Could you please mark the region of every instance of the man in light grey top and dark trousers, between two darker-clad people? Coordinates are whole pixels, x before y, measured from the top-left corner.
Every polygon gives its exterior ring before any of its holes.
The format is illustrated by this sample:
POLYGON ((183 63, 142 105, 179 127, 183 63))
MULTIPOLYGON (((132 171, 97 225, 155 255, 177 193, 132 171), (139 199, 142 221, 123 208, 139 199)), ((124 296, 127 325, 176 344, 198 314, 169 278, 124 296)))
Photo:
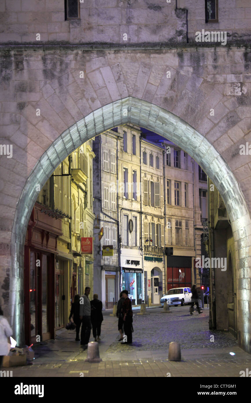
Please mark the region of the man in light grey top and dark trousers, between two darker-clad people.
POLYGON ((80 344, 85 345, 85 348, 87 348, 91 334, 91 303, 89 300, 90 291, 90 287, 85 287, 85 293, 80 298, 79 309, 79 318, 82 320, 80 344))

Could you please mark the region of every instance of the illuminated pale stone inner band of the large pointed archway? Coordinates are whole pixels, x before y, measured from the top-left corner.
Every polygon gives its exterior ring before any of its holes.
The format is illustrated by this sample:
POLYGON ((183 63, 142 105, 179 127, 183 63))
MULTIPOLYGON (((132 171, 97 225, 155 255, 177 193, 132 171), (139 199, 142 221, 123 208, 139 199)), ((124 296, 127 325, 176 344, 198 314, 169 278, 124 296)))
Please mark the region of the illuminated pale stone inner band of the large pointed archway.
MULTIPOLYGON (((181 118, 149 102, 127 97, 91 112, 64 131, 41 156, 25 183, 17 205, 11 237, 10 320, 18 343, 23 341, 23 246, 27 222, 37 198, 36 185, 40 184, 42 187, 58 164, 82 143, 126 123, 145 127, 168 138, 190 154, 203 168, 218 188, 228 211, 235 249, 239 253, 237 267, 241 268, 241 264, 248 267, 251 219, 243 193, 228 164, 205 137, 181 118)), ((243 279, 247 275, 247 270, 240 272, 243 279)), ((251 328, 250 323, 245 322, 245 315, 251 297, 247 290, 241 289, 240 280, 239 284, 239 340, 243 348, 250 351, 251 328)))

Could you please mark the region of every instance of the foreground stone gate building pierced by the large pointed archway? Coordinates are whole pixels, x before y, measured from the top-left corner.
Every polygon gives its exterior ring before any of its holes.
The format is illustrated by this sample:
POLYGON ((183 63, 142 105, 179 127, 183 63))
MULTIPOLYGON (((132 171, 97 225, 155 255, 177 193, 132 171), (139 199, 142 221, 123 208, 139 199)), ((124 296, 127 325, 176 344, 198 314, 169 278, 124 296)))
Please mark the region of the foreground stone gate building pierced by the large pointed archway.
POLYGON ((250 352, 249 1, 75 4, 0 4, 0 303, 18 344, 36 185, 85 141, 133 124, 187 152, 217 187, 234 237, 238 341, 250 352))

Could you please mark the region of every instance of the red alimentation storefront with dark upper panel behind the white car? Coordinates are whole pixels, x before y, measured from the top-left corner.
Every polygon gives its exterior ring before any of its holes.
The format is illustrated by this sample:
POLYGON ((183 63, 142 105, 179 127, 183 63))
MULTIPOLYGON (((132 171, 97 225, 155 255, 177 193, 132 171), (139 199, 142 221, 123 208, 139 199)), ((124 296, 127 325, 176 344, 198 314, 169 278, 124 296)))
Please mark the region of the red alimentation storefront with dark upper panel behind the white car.
POLYGON ((191 258, 187 256, 167 256, 167 290, 191 287, 191 258))

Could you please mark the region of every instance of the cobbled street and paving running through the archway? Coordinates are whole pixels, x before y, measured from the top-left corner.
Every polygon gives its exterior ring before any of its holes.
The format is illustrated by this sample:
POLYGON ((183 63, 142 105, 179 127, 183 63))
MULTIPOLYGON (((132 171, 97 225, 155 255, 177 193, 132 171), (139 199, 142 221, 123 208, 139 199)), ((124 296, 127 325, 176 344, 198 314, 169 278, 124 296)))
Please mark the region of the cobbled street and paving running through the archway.
MULTIPOLYGON (((189 307, 147 309, 149 315, 133 311, 133 344, 118 342, 117 318, 106 311, 99 342, 100 363, 85 362, 87 350, 75 341, 75 332, 61 329, 56 340, 34 346, 32 365, 9 368, 13 377, 239 377, 251 367, 251 356, 224 331, 208 330, 209 310, 189 314, 189 307), (214 336, 214 342, 212 340, 214 336), (181 345, 181 361, 168 361, 171 341, 181 345), (235 355, 230 355, 230 352, 235 355)), ((93 341, 92 334, 90 341, 93 341)))

